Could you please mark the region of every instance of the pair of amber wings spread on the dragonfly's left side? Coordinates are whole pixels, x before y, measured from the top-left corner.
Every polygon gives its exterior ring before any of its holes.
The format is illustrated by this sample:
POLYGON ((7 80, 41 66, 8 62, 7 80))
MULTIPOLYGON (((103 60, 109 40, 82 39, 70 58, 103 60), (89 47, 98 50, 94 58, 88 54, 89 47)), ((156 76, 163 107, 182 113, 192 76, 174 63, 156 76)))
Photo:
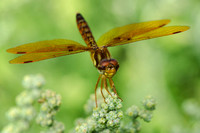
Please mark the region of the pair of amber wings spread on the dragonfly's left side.
POLYGON ((10 61, 11 64, 31 63, 59 56, 80 53, 89 50, 77 42, 65 39, 40 41, 8 49, 7 52, 24 54, 10 61))

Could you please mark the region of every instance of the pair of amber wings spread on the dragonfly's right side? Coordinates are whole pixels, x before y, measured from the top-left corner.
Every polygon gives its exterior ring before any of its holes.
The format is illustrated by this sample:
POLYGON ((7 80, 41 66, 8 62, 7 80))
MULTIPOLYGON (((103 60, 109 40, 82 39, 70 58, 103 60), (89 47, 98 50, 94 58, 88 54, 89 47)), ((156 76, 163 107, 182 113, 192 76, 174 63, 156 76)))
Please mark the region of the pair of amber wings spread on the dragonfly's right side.
POLYGON ((115 28, 102 35, 97 41, 97 45, 99 47, 111 47, 161 36, 172 35, 189 29, 188 26, 163 27, 169 22, 170 20, 157 20, 115 28))

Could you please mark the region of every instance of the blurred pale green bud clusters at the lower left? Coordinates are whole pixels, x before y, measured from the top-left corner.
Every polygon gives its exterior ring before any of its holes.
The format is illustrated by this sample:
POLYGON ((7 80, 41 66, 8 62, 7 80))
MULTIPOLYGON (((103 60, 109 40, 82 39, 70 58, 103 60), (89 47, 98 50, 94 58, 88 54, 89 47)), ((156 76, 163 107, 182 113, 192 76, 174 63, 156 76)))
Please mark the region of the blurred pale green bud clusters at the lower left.
POLYGON ((61 97, 55 92, 46 90, 42 93, 41 88, 45 80, 41 75, 25 76, 22 82, 24 90, 16 97, 16 107, 7 112, 10 123, 3 128, 1 133, 24 133, 30 128, 30 124, 36 117, 36 110, 33 104, 41 103, 40 113, 36 121, 43 127, 48 127, 41 133, 63 133, 63 123, 54 120, 60 104, 61 97), (40 98, 40 99, 39 99, 40 98), (39 99, 39 100, 38 100, 39 99))

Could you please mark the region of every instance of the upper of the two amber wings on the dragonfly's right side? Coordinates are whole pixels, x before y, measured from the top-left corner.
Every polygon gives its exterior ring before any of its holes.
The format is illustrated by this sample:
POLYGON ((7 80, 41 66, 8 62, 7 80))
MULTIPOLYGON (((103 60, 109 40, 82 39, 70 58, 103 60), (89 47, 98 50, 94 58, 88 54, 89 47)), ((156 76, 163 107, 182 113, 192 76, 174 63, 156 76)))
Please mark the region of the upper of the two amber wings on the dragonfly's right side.
POLYGON ((119 43, 119 41, 122 39, 121 36, 127 36, 130 34, 132 36, 141 35, 151 30, 165 26, 169 22, 170 20, 164 19, 164 20, 129 24, 126 26, 114 28, 108 31, 107 33, 103 34, 97 41, 97 45, 100 47, 100 46, 106 46, 108 44, 112 45, 114 43, 119 43))

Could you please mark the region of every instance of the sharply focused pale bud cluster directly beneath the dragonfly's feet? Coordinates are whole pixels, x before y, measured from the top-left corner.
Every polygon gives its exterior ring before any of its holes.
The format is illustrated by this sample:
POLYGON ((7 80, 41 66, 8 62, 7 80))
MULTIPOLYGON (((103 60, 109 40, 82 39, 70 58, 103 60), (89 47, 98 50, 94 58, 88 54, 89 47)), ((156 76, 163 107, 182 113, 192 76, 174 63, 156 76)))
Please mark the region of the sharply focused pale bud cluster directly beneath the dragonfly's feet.
POLYGON ((118 130, 123 117, 122 101, 114 93, 112 93, 112 97, 108 95, 105 101, 106 103, 101 104, 101 108, 93 110, 92 116, 95 120, 95 130, 103 131, 109 129, 115 132, 118 130))

